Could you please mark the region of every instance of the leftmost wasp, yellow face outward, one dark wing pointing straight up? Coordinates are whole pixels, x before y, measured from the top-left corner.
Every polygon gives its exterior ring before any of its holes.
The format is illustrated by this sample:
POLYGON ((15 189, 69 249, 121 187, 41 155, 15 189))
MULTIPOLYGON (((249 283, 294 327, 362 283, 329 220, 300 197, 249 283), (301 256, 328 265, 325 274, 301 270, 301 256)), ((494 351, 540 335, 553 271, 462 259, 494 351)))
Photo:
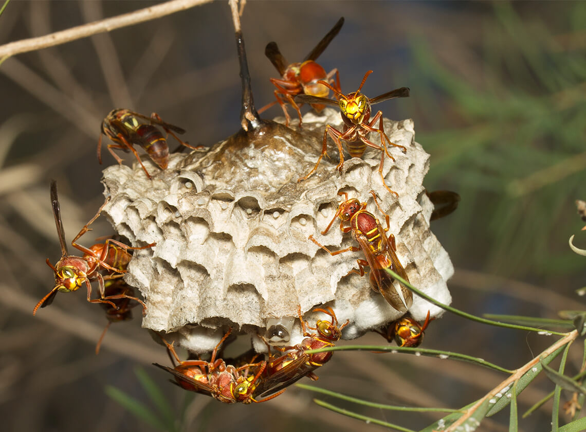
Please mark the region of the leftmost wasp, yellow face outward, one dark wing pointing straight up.
POLYGON ((106 199, 103 205, 101 205, 96 215, 90 219, 90 222, 86 223, 81 231, 77 233, 77 236, 71 241, 71 246, 83 252, 83 257, 71 256, 67 252, 67 245, 65 244, 65 233, 63 230, 63 222, 61 220, 59 198, 57 196, 57 182, 51 182, 51 204, 53 206, 53 216, 57 227, 57 236, 59 237, 59 244, 61 245, 61 259, 57 261, 55 266, 53 266, 53 264, 50 263, 49 258, 47 258, 47 265, 53 269, 55 274, 55 286, 36 304, 35 309, 33 309, 33 315, 36 314, 39 308, 51 304, 57 291, 77 291, 83 284, 86 284, 87 301, 90 303, 105 303, 117 308, 113 300, 128 298, 130 300, 138 301, 143 307, 144 314, 146 305, 137 297, 127 295, 124 292, 106 295, 104 280, 122 277, 122 274, 126 272, 126 267, 130 262, 130 258, 132 258, 132 255, 128 252, 129 249, 147 249, 148 247, 154 246, 155 243, 142 247, 131 247, 120 241, 107 239, 104 243, 94 244, 90 248, 76 243, 83 234, 90 230, 89 226, 98 216, 100 216, 102 209, 107 203, 108 199, 106 199), (107 271, 107 274, 102 275, 100 270, 107 271), (98 286, 100 287, 100 298, 92 299, 91 282, 95 280, 98 281, 98 286))

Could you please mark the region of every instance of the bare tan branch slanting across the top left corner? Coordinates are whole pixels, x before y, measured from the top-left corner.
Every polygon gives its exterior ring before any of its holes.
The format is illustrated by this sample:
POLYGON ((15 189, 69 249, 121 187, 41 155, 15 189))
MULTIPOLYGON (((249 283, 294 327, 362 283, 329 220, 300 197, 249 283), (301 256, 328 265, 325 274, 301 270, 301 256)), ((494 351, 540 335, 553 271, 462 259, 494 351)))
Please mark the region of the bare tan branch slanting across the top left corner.
POLYGON ((71 40, 87 38, 87 36, 97 35, 98 33, 110 32, 122 27, 150 21, 151 19, 161 18, 161 16, 170 15, 171 13, 184 11, 185 9, 193 8, 194 6, 199 6, 210 1, 212 0, 172 0, 160 5, 139 9, 138 11, 101 19, 100 21, 90 22, 60 32, 50 33, 39 38, 16 40, 15 42, 0 46, 0 62, 4 60, 4 57, 45 49, 54 45, 61 45, 62 43, 71 42, 71 40))

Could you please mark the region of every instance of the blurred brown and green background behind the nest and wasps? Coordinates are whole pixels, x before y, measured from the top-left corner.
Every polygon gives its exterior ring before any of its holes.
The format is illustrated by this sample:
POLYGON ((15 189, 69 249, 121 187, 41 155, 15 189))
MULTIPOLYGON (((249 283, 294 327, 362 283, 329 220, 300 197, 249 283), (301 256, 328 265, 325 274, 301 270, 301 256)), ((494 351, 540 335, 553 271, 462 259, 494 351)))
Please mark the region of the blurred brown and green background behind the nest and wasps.
MULTIPOLYGON (((0 44, 153 4, 12 1, 0 16, 0 44)), ((278 77, 265 45, 274 40, 288 62, 300 61, 340 16, 345 25, 319 63, 338 68, 345 93, 369 69, 374 73, 363 87, 369 97, 410 87, 410 98, 376 108, 394 120, 413 118, 416 139, 431 154, 428 190, 462 197, 455 213, 432 224, 456 268, 449 283, 453 305, 476 315, 547 318, 583 309, 574 290, 585 284, 584 258, 567 240, 577 234, 575 244, 586 248, 574 204, 586 197, 586 2, 249 1, 242 25, 257 107, 273 100, 269 78, 278 77)), ((43 261, 60 257, 50 179, 59 184, 69 242, 104 199, 96 146, 110 110, 156 111, 185 128, 192 145, 212 145, 239 129, 240 79, 227 2, 10 58, 0 65, 0 102, 3 430, 154 430, 104 393, 111 385, 151 403, 135 375, 138 365, 178 412, 187 407, 180 416, 185 430, 364 428, 315 406, 313 394, 294 387, 254 406, 226 406, 200 395, 186 400, 186 392, 151 366, 169 360, 140 328, 138 308, 133 321, 110 328, 98 356, 94 346, 106 320, 85 292, 59 294, 32 316, 53 287, 43 261)), ((282 113, 273 107, 263 115, 282 113)), ((115 163, 106 151, 103 159, 104 166, 115 163)), ((93 227, 83 244, 111 233, 104 220, 93 227)), ((424 346, 515 369, 553 340, 446 314, 431 323, 424 346)), ((360 342, 384 339, 373 334, 360 342)), ((579 348, 570 352, 568 375, 580 368, 581 355, 579 348)), ((369 352, 336 353, 318 372, 326 389, 380 403, 450 408, 473 402, 505 378, 452 360, 369 352)), ((533 383, 520 396, 520 410, 551 390, 545 378, 533 383)), ((417 430, 440 417, 361 411, 417 430)), ((550 430, 550 413, 548 403, 520 430, 550 430)), ((508 430, 508 416, 502 411, 481 430, 508 430)))

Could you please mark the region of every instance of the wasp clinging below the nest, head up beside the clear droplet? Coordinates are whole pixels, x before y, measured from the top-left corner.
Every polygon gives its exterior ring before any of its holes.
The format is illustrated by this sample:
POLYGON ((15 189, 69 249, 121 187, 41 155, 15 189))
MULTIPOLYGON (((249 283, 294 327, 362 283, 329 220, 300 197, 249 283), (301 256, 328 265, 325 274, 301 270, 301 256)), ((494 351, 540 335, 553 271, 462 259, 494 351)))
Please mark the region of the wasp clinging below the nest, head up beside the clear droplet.
POLYGON ((306 351, 333 346, 334 342, 339 341, 340 337, 342 337, 341 330, 349 321, 338 326, 338 319, 332 308, 316 308, 314 312, 323 312, 329 315, 332 321, 318 319, 315 327, 311 327, 302 318, 301 308, 298 308, 301 330, 305 339, 295 346, 277 347, 276 349, 282 352, 282 355, 272 356, 271 346, 265 341, 269 359, 262 379, 255 389, 255 395, 265 396, 267 393, 272 395, 275 392, 280 394, 280 392, 304 376, 308 376, 312 380, 318 379, 318 376, 313 371, 328 362, 332 358, 333 352, 308 354, 306 351), (309 333, 307 329, 316 330, 317 333, 309 333))

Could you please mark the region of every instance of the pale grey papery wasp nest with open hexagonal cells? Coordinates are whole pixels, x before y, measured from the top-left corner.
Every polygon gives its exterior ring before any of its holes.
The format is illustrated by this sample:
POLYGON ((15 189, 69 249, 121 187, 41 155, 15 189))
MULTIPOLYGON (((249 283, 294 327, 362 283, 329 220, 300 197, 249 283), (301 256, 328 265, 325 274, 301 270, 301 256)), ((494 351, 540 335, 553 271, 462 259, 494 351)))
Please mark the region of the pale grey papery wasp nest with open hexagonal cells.
MULTIPOLYGON (((319 233, 335 214, 340 191, 366 201, 384 227, 384 215, 369 194, 375 191, 390 215, 389 232, 397 238, 397 256, 411 283, 441 302, 451 301, 446 281, 454 269, 430 231, 433 205, 422 186, 429 155, 414 141, 413 121, 384 124, 390 140, 407 148, 403 154, 390 147, 396 162, 384 162, 383 174, 397 198, 381 182, 380 151, 371 149, 364 159, 347 159, 342 174, 335 169, 337 160, 324 158, 314 175, 297 183, 315 165, 325 125, 342 128, 338 110, 323 113, 305 115, 302 131, 268 124, 241 131, 207 152, 172 154, 165 171, 144 158, 152 180, 138 164, 104 170, 105 193, 111 195, 104 211, 115 229, 133 244, 156 242, 135 254, 125 276, 147 303, 144 327, 175 332, 166 339, 206 352, 223 334, 216 329, 227 325, 253 335, 271 328, 275 335, 268 337, 299 342, 298 325, 291 329, 294 319, 286 318, 297 317, 298 305, 306 312, 326 304, 340 322, 350 319, 346 339, 400 317, 370 288, 367 276, 347 275, 362 252, 330 256, 308 240, 313 234, 332 250, 357 246, 350 233, 338 229, 339 221, 327 236, 319 233)), ((379 144, 377 134, 370 138, 379 144)), ((331 140, 328 145, 335 159, 331 140)), ((441 313, 414 295, 411 315, 423 320, 428 310, 432 317, 441 313)), ((311 312, 305 318, 315 325, 311 312)))

